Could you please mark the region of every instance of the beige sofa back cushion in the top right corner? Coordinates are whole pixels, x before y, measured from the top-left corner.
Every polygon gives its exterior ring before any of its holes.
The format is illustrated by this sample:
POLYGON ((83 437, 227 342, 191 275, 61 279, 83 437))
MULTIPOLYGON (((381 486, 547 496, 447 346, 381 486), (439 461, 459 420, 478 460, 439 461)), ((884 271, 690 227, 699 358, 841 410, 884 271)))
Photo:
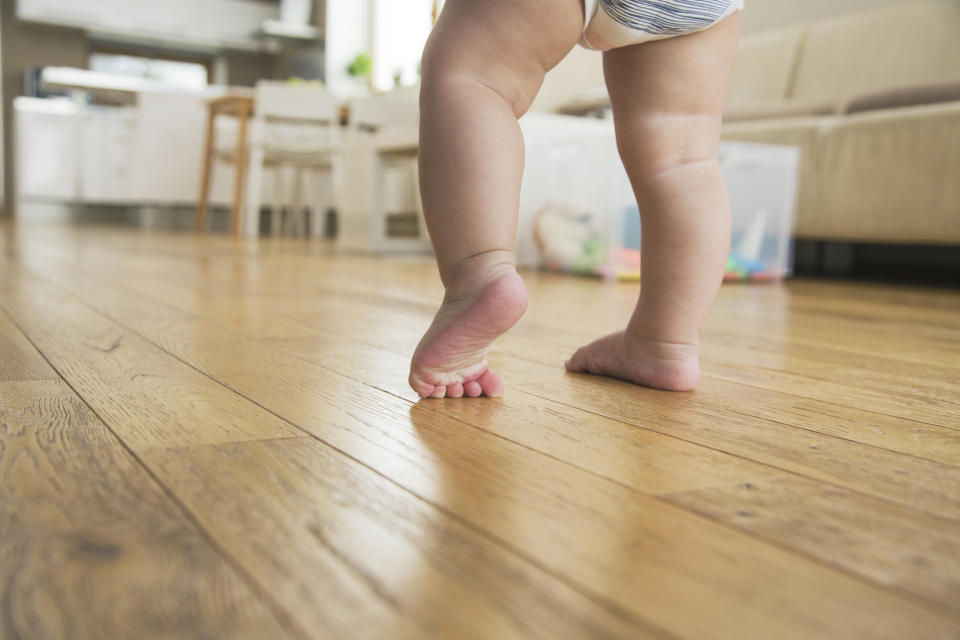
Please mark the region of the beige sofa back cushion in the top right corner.
POLYGON ((927 0, 810 26, 791 97, 837 99, 960 74, 960 2, 927 0))

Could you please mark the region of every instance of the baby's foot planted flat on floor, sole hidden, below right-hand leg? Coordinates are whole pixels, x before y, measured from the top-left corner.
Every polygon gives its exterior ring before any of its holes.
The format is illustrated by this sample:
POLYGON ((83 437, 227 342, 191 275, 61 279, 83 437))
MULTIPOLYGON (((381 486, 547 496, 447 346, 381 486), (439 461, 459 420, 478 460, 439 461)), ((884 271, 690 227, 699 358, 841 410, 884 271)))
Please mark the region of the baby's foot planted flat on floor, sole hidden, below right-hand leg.
POLYGON ((697 345, 669 343, 618 331, 580 347, 567 371, 620 378, 655 389, 692 391, 700 380, 697 345))

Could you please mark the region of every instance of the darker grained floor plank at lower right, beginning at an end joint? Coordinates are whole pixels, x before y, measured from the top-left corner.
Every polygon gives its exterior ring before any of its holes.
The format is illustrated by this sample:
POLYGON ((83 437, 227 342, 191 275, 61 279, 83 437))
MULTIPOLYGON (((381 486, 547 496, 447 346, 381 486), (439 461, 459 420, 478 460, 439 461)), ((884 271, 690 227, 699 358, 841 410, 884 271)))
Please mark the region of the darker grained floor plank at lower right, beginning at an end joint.
POLYGON ((670 499, 960 611, 960 524, 796 476, 670 499))

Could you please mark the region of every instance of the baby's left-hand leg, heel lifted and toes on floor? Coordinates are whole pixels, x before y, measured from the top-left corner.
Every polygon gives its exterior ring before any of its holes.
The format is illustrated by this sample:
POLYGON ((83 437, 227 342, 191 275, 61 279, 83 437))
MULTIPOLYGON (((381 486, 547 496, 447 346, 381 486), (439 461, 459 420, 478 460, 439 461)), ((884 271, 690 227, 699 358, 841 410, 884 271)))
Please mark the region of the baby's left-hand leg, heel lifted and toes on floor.
POLYGON ((583 27, 580 0, 449 0, 424 51, 423 212, 446 287, 410 385, 422 397, 499 395, 493 340, 526 309, 513 246, 523 171, 517 118, 583 27))

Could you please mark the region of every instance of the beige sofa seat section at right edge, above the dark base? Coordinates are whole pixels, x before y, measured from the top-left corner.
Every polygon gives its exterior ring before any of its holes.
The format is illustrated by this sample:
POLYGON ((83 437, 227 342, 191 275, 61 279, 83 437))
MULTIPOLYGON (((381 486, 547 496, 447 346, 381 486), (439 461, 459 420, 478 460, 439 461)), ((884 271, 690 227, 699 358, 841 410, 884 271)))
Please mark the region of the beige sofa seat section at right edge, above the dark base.
POLYGON ((819 146, 805 235, 960 243, 960 102, 842 116, 819 146))

